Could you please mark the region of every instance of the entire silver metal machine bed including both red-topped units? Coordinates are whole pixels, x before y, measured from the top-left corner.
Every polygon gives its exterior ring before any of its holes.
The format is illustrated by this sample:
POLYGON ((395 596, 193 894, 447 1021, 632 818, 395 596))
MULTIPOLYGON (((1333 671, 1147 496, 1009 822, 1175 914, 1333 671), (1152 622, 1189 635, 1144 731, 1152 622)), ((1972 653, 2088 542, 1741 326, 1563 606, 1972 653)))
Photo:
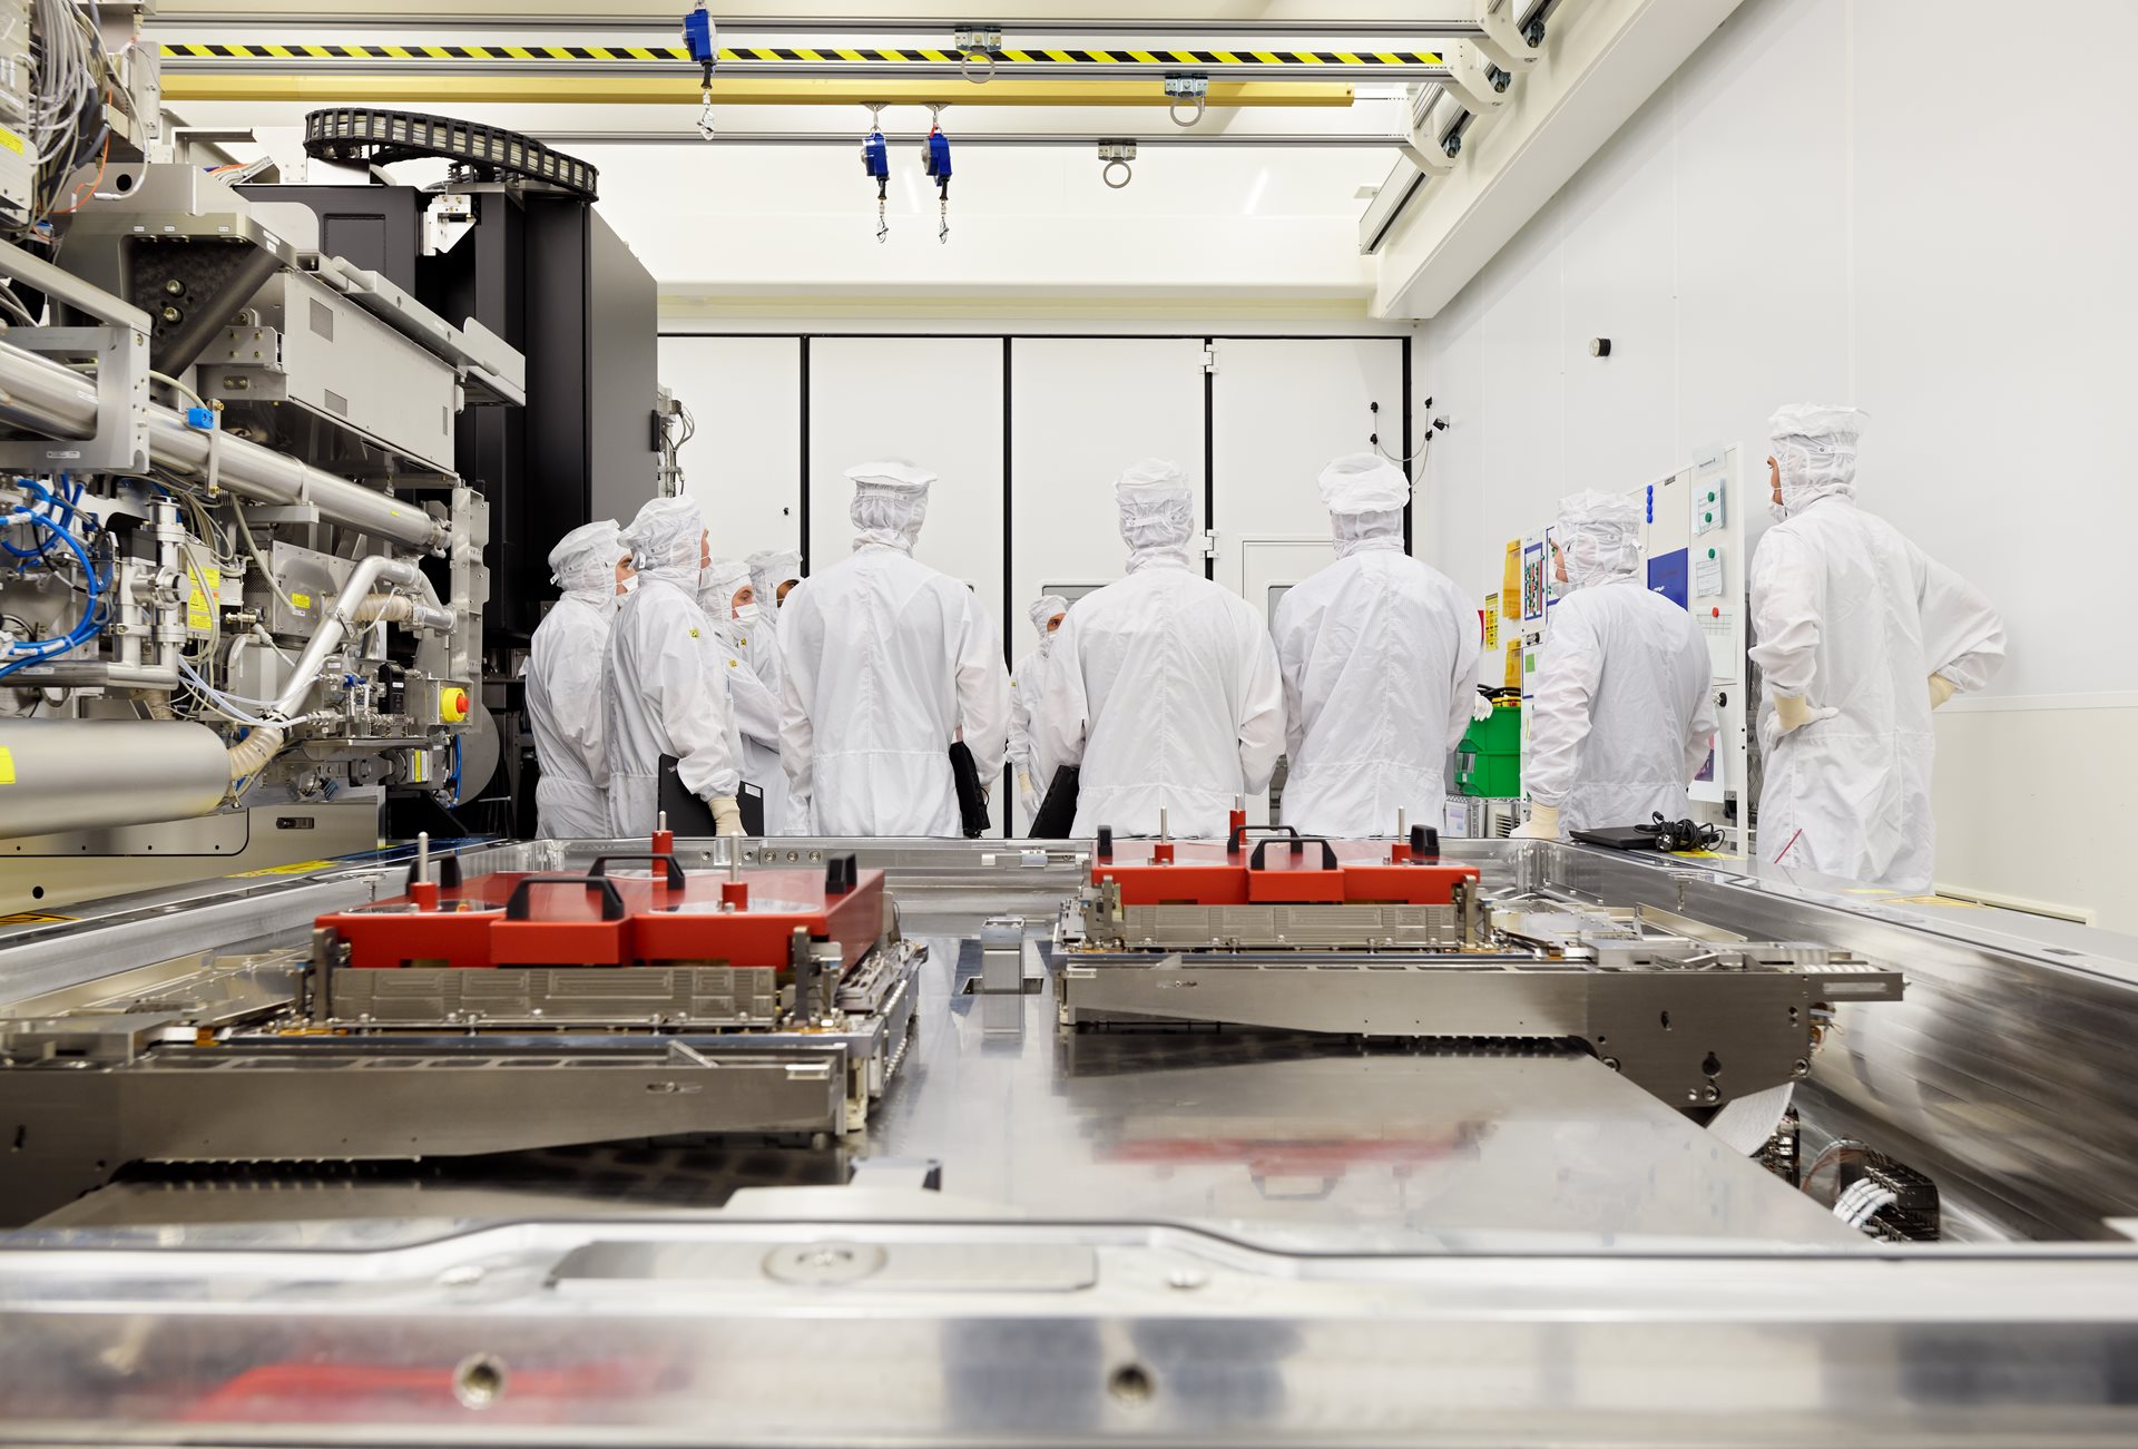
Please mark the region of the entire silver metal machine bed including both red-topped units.
POLYGON ((0 925, 0 1440, 2132 1430, 2100 932, 1251 833, 440 846, 75 915, 0 925))

